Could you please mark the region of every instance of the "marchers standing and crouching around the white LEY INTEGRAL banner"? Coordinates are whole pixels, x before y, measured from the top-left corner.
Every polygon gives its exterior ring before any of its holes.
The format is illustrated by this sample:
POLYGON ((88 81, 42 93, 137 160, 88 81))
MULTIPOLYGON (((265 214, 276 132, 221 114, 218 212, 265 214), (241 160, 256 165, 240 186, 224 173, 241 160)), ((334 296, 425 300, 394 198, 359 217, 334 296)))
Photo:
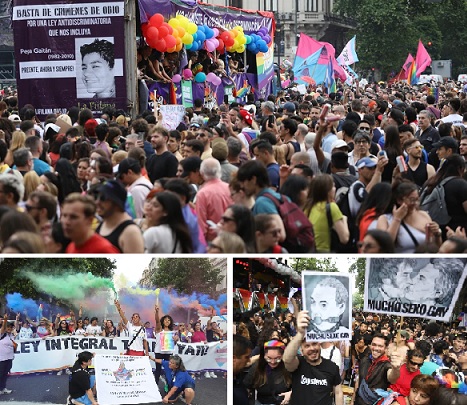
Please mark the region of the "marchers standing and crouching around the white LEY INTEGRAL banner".
MULTIPOLYGON (((19 341, 34 338, 47 339, 56 336, 103 336, 129 339, 125 354, 149 356, 154 361, 155 381, 159 383, 161 375, 165 376, 166 392, 164 398, 168 401, 175 401, 183 394, 186 403, 190 404, 195 394, 196 379, 201 377, 218 378, 214 371, 205 371, 203 374, 200 372, 188 373, 182 359, 173 353, 173 349, 170 349, 172 345, 164 347, 161 343, 164 332, 169 333, 174 345, 177 342, 206 344, 226 340, 226 331, 223 331, 213 321, 214 310, 212 310, 206 325, 203 326, 200 319, 192 319, 189 323, 184 323, 174 322, 169 314, 161 316, 157 304, 154 306, 154 322, 143 322, 139 313, 133 313, 128 319, 118 300, 115 300, 115 308, 120 316, 118 326, 115 326, 111 319, 99 322, 95 316, 91 318, 83 316, 82 307, 79 309, 78 317, 74 311, 70 310, 65 315, 58 313, 53 315, 52 319, 40 317, 36 321, 31 320, 26 313, 18 313, 14 321, 9 320, 8 314, 5 314, 0 327, 0 395, 12 392, 6 388, 6 382, 13 366, 14 352, 19 341), (147 339, 154 339, 155 345, 149 347, 147 339), (167 375, 170 377, 167 378, 167 375)), ((95 381, 89 379, 88 373, 93 354, 90 353, 91 356, 89 356, 83 353, 78 355, 73 367, 66 367, 58 371, 58 375, 65 372, 71 376, 69 398, 71 404, 94 405, 97 403, 95 401, 95 381), (78 374, 75 374, 76 370, 79 371, 78 374)))

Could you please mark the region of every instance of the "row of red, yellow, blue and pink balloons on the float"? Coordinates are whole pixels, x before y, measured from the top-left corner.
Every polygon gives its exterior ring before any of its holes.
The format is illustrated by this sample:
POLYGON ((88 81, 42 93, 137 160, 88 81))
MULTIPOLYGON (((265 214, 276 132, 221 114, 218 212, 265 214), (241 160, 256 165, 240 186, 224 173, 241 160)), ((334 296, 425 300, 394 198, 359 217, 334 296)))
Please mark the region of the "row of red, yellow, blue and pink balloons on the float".
MULTIPOLYGON (((142 26, 146 43, 159 52, 179 52, 183 45, 193 52, 206 49, 214 52, 217 49, 223 53, 243 53, 245 49, 257 54, 267 52, 271 36, 266 27, 260 28, 257 34, 247 35, 238 25, 229 31, 219 32, 217 28, 207 25, 196 25, 183 15, 164 21, 162 14, 154 14, 147 24, 142 26)), ((204 81, 204 80, 203 80, 204 81)))

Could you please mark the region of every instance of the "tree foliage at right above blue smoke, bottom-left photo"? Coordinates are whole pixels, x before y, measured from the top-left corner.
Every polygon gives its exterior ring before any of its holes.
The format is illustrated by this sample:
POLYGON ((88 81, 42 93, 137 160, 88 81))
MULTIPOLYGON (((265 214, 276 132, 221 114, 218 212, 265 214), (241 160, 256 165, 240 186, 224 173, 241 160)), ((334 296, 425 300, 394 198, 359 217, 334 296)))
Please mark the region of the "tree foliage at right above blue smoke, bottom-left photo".
POLYGON ((146 287, 173 288, 179 294, 215 296, 216 286, 224 279, 222 266, 226 259, 152 259, 142 281, 146 287))

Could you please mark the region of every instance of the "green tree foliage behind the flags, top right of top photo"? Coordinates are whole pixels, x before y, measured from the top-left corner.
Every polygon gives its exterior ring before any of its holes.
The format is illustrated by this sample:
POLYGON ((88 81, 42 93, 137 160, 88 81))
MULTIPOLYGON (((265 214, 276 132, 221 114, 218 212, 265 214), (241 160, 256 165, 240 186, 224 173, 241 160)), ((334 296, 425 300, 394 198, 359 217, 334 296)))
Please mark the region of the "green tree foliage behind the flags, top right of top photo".
POLYGON ((390 72, 399 72, 409 52, 415 57, 419 39, 433 60, 452 59, 454 68, 467 66, 465 1, 336 0, 333 11, 356 23, 349 39, 357 35, 360 72, 374 67, 385 80, 390 72))

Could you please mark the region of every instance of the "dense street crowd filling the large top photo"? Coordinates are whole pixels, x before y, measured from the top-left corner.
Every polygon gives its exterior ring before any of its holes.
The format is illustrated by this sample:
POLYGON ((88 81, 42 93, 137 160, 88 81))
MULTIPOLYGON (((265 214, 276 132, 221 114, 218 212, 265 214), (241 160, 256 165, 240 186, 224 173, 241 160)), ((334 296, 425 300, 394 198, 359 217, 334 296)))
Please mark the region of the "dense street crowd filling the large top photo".
POLYGON ((2 251, 464 252, 466 93, 436 90, 196 99, 171 131, 110 107, 41 122, 5 95, 2 251))

